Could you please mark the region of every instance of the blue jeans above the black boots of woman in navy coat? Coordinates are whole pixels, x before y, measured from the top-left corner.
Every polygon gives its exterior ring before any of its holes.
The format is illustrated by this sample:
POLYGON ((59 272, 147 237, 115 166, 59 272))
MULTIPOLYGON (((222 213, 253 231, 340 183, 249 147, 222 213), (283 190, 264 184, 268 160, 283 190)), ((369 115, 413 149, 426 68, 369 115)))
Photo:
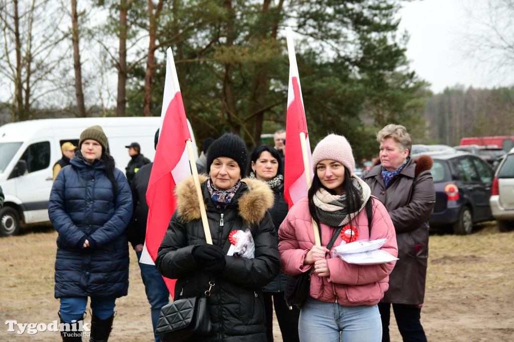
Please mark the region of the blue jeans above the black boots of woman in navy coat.
MULTIPOLYGON (((86 305, 87 296, 61 298, 61 319, 66 323, 82 319, 86 305)), ((115 306, 116 298, 91 297, 91 310, 101 320, 111 317, 115 306)))

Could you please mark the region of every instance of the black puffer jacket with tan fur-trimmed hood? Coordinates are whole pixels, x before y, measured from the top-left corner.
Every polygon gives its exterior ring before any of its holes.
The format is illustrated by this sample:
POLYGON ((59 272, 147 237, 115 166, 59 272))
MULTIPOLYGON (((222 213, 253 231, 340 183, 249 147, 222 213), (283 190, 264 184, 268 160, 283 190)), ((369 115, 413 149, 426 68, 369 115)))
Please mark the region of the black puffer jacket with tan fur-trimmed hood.
POLYGON ((255 257, 226 256, 225 270, 215 276, 199 268, 191 252, 195 245, 205 244, 206 239, 190 177, 176 187, 178 207, 170 220, 155 264, 164 276, 178 279, 175 299, 201 295, 209 288, 208 282, 215 280, 208 297, 212 332, 204 339, 195 338, 195 342, 266 341, 261 287, 271 281, 280 269, 275 226, 267 213, 273 205, 273 195, 264 182, 244 179, 227 208, 217 209, 206 180, 205 176, 200 176, 213 244, 227 253, 230 232, 250 229, 255 242, 255 257), (219 225, 221 214, 224 214, 223 226, 219 225))

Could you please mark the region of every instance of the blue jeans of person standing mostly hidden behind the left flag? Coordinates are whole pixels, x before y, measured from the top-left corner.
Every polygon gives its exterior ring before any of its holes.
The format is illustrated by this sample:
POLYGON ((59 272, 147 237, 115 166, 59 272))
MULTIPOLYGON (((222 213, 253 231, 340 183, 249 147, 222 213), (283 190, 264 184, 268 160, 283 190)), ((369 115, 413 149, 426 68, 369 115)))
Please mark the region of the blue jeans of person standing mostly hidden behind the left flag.
POLYGON ((152 314, 152 326, 154 328, 155 342, 160 342, 160 335, 155 335, 157 320, 159 319, 160 309, 167 305, 170 301, 170 291, 162 279, 162 275, 155 265, 140 263, 142 252, 136 252, 139 268, 141 269, 141 278, 143 279, 144 291, 146 298, 150 303, 150 312, 152 314))

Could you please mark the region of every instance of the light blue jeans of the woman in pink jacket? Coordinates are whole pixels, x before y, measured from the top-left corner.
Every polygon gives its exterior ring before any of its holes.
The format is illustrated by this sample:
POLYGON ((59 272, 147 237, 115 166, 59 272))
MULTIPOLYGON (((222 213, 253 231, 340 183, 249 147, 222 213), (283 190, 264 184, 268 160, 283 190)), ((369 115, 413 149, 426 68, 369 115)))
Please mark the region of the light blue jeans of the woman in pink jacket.
POLYGON ((298 333, 301 342, 380 342, 382 323, 376 305, 343 306, 307 296, 298 333))

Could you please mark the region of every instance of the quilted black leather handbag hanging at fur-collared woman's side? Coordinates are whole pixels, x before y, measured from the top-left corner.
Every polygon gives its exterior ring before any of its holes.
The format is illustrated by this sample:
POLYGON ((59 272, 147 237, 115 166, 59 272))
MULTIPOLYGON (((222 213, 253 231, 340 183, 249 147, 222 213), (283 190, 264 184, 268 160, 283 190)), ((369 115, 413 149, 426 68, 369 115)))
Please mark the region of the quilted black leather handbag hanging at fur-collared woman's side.
POLYGON ((161 308, 155 334, 161 336, 162 342, 186 341, 211 332, 207 297, 214 282, 209 285, 204 296, 177 299, 161 308))

